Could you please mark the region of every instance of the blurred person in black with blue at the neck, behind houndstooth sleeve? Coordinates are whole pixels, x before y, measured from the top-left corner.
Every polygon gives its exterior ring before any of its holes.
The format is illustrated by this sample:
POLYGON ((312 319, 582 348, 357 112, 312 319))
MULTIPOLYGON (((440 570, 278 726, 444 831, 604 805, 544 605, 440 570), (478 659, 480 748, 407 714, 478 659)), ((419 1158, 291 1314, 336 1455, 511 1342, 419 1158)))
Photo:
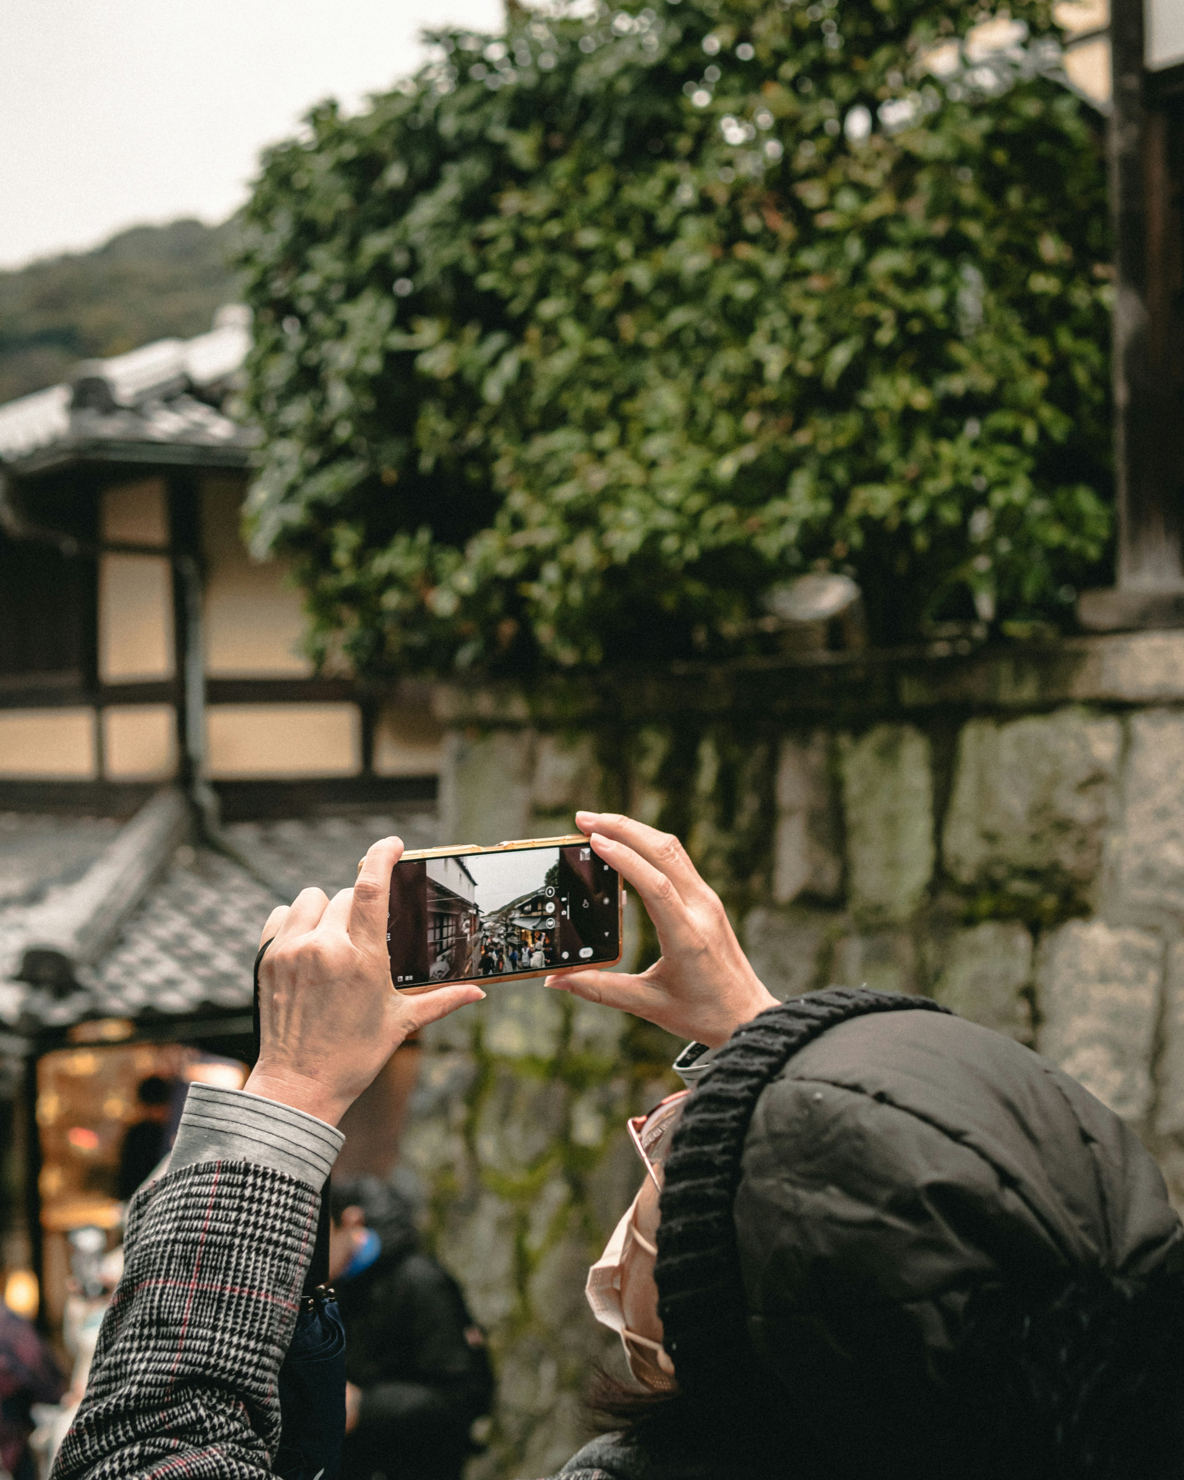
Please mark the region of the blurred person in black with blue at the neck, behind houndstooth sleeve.
POLYGON ((493 1399, 484 1333, 420 1248, 397 1187, 355 1177, 332 1199, 329 1279, 349 1379, 340 1480, 459 1480, 493 1399))

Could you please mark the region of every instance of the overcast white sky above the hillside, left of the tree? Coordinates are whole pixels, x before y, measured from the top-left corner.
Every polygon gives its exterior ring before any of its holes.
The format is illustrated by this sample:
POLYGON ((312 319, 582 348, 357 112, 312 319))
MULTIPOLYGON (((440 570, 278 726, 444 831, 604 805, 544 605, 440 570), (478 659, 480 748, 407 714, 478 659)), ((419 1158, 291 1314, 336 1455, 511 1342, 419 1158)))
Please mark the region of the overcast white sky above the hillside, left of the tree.
POLYGON ((357 108, 419 31, 502 0, 0 0, 0 268, 123 226, 223 221, 318 99, 357 108))

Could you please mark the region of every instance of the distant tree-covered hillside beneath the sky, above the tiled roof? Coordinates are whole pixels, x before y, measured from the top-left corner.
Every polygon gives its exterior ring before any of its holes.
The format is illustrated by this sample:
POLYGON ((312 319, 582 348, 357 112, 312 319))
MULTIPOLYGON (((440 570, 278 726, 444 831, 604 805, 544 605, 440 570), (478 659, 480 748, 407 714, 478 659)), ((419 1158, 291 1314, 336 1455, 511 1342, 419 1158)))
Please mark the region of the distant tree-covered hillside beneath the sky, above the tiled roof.
POLYGON ((61 380, 77 360, 198 334, 238 297, 235 223, 133 226, 93 252, 0 272, 0 403, 61 380))

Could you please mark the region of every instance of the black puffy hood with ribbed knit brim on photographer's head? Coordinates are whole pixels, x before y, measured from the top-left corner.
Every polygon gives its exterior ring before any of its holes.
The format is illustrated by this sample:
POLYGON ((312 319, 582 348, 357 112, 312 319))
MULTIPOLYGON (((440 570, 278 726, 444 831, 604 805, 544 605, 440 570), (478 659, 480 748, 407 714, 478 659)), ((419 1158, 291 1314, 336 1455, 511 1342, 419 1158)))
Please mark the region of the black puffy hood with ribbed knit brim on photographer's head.
POLYGON ((685 1391, 755 1350, 783 1390, 841 1410, 864 1381, 956 1381, 984 1311, 1018 1360, 1066 1291, 1129 1304, 1183 1268, 1134 1132, 926 999, 829 989, 761 1014, 718 1052, 666 1163, 659 1314, 685 1391))

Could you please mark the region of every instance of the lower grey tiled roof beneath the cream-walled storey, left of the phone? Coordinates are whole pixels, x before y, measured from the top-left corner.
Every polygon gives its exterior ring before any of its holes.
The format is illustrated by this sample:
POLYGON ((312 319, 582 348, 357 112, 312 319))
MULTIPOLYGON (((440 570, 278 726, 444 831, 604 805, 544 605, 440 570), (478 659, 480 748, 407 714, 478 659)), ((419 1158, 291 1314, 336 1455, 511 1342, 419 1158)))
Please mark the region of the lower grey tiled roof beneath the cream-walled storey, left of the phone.
MULTIPOLYGON (((104 826, 104 841, 111 838, 110 824, 78 818, 21 818, 21 824, 24 852, 53 860, 58 873, 52 885, 65 882, 70 869, 80 872, 81 854, 71 860, 71 847, 90 848, 93 858, 104 826)), ((15 826, 10 830, 18 832, 15 826)), ((309 884, 329 894, 348 887, 366 848, 392 832, 408 847, 431 845, 435 817, 416 807, 373 817, 235 823, 226 838, 241 863, 212 848, 179 848, 114 946, 95 965, 80 968, 80 990, 65 998, 15 980, 25 900, 36 889, 16 897, 9 892, 7 907, 0 903, 0 1029, 34 1033, 89 1017, 249 1011, 259 931, 274 906, 309 884)), ((30 870, 36 867, 30 864, 30 870)), ((52 870, 46 866, 41 872, 52 870)))

